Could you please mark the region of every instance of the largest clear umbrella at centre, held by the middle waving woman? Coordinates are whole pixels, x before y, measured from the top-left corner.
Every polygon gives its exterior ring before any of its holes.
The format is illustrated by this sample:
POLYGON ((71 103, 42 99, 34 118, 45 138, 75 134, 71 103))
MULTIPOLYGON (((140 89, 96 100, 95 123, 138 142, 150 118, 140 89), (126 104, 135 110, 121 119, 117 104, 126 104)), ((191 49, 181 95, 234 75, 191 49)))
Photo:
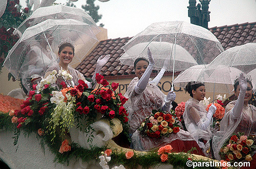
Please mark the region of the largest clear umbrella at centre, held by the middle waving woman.
MULTIPOLYGON (((155 59, 155 67, 161 68, 164 65, 163 59, 173 61, 174 66, 170 66, 168 70, 175 72, 175 70, 185 70, 187 67, 175 67, 176 64, 176 46, 179 45, 184 48, 198 64, 209 64, 218 54, 224 51, 218 39, 209 30, 204 27, 187 23, 184 21, 172 21, 172 22, 158 22, 148 26, 144 31, 134 36, 129 42, 123 46, 125 55, 135 57, 146 57, 143 52, 145 49, 154 42, 168 42, 173 44, 173 47, 169 48, 169 53, 158 49, 161 59, 155 59), (141 54, 134 55, 137 51, 131 48, 137 44, 143 43, 141 54)), ((159 45, 160 46, 160 45, 159 45)), ((154 52, 152 52, 154 57, 154 52)), ((134 59, 134 60, 135 60, 134 59)), ((125 64, 125 60, 120 58, 121 63, 125 64)), ((169 63, 171 65, 172 63, 169 63)), ((126 63, 127 64, 127 63, 126 63)), ((127 65, 133 66, 131 62, 127 65)))

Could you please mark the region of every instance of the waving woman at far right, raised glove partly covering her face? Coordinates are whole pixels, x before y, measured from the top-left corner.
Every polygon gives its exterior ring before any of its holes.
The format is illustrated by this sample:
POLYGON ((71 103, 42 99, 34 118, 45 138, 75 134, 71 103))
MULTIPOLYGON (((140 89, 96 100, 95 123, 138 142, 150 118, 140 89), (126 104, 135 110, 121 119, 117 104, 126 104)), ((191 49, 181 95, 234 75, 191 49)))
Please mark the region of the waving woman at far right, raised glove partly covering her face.
MULTIPOLYGON (((220 160, 220 149, 226 140, 238 132, 244 132, 244 135, 255 135, 256 132, 256 107, 249 104, 252 97, 252 83, 246 79, 243 73, 240 74, 234 82, 234 95, 237 100, 231 101, 226 105, 225 115, 220 123, 220 131, 212 139, 212 149, 215 158, 220 160)), ((255 155, 254 155, 255 156, 255 155)), ((252 157, 250 165, 254 166, 256 157, 252 157)))

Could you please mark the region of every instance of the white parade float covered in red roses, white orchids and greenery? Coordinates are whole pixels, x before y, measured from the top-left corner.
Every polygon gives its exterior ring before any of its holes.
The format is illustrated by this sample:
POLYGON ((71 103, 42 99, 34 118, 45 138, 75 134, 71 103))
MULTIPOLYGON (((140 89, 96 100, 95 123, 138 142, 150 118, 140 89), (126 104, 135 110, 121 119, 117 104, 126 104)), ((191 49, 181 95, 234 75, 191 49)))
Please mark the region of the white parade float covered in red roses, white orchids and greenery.
MULTIPOLYGON (((94 90, 82 80, 74 87, 66 80, 57 86, 54 82, 58 76, 72 78, 66 71, 53 71, 33 86, 34 91, 30 91, 19 109, 0 114, 0 158, 11 168, 186 168, 188 159, 211 160, 189 153, 172 153, 170 145, 151 152, 117 145, 112 138, 121 132, 127 134, 129 120, 123 107, 127 99, 115 92, 118 83, 110 85, 97 74, 98 88, 94 90)), ((166 133, 161 129, 161 136, 179 132, 174 112, 152 113, 152 122, 163 118, 157 123, 167 128, 166 133)))

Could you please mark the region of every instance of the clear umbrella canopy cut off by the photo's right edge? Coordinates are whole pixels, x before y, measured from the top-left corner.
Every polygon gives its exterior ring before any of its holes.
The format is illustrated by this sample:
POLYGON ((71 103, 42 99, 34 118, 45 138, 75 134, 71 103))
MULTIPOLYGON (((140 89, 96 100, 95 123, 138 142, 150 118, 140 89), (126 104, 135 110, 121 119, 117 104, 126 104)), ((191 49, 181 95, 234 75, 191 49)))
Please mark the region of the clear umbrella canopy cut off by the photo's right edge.
POLYGON ((225 50, 209 64, 206 69, 207 74, 215 70, 218 65, 235 67, 244 73, 255 69, 256 43, 247 43, 225 50))

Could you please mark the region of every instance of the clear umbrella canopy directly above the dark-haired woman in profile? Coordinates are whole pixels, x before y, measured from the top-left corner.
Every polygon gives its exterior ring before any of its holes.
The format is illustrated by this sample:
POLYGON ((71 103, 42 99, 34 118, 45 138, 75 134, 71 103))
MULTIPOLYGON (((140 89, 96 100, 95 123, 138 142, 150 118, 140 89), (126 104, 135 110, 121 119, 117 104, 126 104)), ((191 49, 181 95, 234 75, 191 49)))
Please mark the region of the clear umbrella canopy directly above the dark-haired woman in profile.
POLYGON ((233 67, 218 66, 210 76, 205 73, 207 65, 196 65, 180 73, 174 79, 175 87, 185 88, 189 81, 205 83, 209 92, 231 93, 234 79, 242 72, 233 67))

